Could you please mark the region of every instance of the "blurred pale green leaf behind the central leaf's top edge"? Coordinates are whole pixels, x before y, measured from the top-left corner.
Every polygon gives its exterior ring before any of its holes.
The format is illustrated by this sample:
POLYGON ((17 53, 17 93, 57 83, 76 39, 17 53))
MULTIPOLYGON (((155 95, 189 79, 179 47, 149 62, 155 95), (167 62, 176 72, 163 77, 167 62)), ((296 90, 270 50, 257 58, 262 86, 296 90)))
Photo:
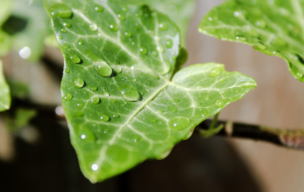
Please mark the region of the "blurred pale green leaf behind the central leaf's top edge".
POLYGON ((185 47, 186 35, 190 20, 195 12, 196 0, 128 0, 130 2, 141 2, 157 9, 157 11, 168 14, 181 30, 181 45, 185 47))

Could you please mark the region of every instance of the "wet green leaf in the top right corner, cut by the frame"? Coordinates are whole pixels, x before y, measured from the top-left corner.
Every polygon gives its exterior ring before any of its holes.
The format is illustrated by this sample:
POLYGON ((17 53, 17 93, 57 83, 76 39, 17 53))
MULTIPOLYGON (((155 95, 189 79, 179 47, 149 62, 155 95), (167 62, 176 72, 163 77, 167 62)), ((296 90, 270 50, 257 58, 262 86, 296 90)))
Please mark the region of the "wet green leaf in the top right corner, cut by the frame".
POLYGON ((199 31, 282 57, 304 82, 303 8, 299 0, 229 0, 202 19, 199 31))

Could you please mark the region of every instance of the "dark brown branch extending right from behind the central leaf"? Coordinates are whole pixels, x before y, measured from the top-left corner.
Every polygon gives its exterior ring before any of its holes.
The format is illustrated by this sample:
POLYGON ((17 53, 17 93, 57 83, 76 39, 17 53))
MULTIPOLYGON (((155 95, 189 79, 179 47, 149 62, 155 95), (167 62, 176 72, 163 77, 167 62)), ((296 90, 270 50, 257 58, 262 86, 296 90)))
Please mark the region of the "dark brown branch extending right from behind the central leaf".
MULTIPOLYGON (((209 129, 211 123, 212 120, 207 119, 199 124, 197 128, 206 131, 209 129)), ((267 141, 283 147, 304 150, 304 130, 286 130, 259 125, 218 121, 217 125, 221 124, 224 125, 224 128, 215 135, 267 141)))

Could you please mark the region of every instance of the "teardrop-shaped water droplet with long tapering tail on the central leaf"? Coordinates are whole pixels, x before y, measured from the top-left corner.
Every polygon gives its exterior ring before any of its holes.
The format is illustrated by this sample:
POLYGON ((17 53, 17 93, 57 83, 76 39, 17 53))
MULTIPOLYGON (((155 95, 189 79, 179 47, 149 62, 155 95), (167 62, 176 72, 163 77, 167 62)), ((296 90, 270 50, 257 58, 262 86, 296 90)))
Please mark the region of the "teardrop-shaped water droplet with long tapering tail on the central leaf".
POLYGON ((86 55, 93 62, 96 72, 102 77, 109 77, 112 74, 112 68, 104 60, 97 57, 92 51, 87 50, 86 55))

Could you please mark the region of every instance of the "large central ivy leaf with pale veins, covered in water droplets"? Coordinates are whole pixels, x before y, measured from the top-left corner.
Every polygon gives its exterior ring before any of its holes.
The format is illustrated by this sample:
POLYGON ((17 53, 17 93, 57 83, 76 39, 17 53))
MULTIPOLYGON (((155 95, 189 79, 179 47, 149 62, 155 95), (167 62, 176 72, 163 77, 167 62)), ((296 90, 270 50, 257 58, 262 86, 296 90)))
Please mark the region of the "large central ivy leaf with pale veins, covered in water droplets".
POLYGON ((64 55, 61 95, 71 143, 92 183, 164 158, 196 125, 256 85, 216 63, 183 68, 171 80, 180 33, 147 6, 114 0, 45 6, 64 55))

